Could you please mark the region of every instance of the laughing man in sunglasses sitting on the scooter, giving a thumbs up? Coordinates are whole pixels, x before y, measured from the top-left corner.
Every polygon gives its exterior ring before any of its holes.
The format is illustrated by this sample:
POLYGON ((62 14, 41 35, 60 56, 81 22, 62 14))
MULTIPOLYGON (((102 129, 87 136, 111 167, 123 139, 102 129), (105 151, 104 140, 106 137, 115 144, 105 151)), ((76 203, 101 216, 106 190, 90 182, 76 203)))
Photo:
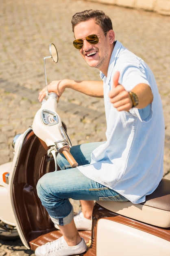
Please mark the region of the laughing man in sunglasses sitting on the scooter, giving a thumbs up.
MULTIPOLYGON (((63 170, 39 180, 38 196, 63 236, 38 247, 37 256, 86 251, 68 198, 83 200, 82 212, 90 216, 94 200, 144 202, 163 176, 165 128, 153 73, 141 58, 115 40, 111 19, 102 11, 76 13, 72 29, 74 47, 90 67, 100 70, 102 82, 65 79, 53 81, 48 90, 59 97, 65 88, 104 97, 107 141, 74 146, 71 152, 79 166, 72 168, 71 175, 67 160, 59 155, 57 161, 63 170)), ((44 96, 42 90, 39 101, 44 96)))

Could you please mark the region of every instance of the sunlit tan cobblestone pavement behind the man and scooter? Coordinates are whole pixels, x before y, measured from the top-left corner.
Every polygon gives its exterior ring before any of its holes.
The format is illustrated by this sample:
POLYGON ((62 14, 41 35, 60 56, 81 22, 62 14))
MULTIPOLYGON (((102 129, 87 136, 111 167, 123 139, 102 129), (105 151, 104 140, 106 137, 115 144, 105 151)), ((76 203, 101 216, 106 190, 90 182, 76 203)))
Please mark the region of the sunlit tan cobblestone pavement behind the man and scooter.
MULTIPOLYGON (((48 81, 99 79, 98 70, 88 67, 72 47, 70 20, 77 11, 102 9, 113 20, 116 39, 141 56, 155 74, 166 123, 164 176, 170 179, 170 17, 84 0, 1 0, 0 5, 0 164, 11 161, 14 135, 32 124, 40 107, 43 58, 49 56, 50 43, 57 46, 59 62, 46 61, 48 81)), ((102 99, 65 90, 58 108, 73 145, 105 139, 102 99)), ((20 240, 0 240, 0 256, 4 255, 34 253, 20 240)))

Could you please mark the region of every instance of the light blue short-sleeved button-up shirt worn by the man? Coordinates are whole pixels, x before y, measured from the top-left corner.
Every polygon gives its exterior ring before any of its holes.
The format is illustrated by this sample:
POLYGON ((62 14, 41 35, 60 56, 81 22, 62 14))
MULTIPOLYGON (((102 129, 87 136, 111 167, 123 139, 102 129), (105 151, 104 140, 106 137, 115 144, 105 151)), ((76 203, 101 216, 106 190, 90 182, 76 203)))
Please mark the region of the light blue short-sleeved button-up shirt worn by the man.
POLYGON ((145 201, 163 177, 165 125, 161 98, 153 73, 146 63, 120 42, 113 49, 107 77, 103 80, 107 121, 106 143, 92 152, 92 161, 77 168, 90 179, 109 187, 133 203, 145 201), (118 112, 110 103, 113 76, 120 72, 119 83, 127 91, 146 83, 153 102, 144 109, 118 112))

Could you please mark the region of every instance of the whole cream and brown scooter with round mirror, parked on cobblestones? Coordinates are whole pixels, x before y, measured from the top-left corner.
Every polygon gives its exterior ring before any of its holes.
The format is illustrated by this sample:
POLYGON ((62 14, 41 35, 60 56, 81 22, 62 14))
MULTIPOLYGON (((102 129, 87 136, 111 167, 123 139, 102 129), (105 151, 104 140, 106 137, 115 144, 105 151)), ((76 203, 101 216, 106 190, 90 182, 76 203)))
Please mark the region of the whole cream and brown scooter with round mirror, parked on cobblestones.
MULTIPOLYGON (((53 44, 44 58, 45 78, 47 58, 58 61, 53 44)), ((13 161, 0 166, 0 239, 19 235, 28 249, 35 250, 62 235, 41 205, 36 184, 45 173, 59 169, 58 152, 77 166, 66 130, 57 113, 57 95, 48 93, 46 81, 46 100, 33 125, 14 138, 13 161)), ((142 204, 96 201, 92 231, 79 234, 87 243, 85 256, 170 256, 170 180, 162 179, 142 204)))

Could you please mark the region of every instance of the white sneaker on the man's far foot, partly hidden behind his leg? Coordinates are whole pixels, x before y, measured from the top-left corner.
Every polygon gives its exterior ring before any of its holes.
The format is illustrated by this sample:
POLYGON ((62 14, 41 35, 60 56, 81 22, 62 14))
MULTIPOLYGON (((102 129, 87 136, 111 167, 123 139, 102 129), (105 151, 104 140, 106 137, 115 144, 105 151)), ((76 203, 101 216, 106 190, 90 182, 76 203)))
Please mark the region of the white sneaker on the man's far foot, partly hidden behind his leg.
MULTIPOLYGON (((92 229, 92 220, 88 220, 84 217, 83 213, 79 213, 74 216, 74 223, 77 230, 91 230, 92 229)), ((56 229, 60 229, 57 224, 54 224, 56 229)))

